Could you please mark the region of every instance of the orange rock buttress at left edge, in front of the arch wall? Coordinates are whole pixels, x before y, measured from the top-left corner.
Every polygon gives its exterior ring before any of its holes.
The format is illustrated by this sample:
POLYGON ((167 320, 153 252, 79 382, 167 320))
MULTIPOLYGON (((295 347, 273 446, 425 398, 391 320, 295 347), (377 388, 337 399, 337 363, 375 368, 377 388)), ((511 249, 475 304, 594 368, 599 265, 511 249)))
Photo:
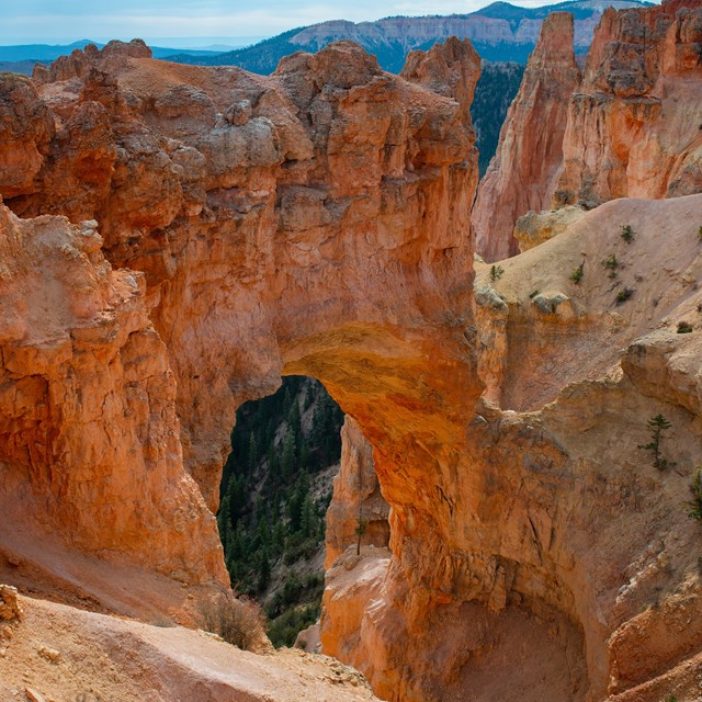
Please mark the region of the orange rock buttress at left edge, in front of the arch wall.
POLYGON ((0 543, 30 558, 63 536, 75 554, 225 584, 213 516, 183 471, 144 276, 113 271, 102 244, 95 222, 22 220, 0 204, 0 543))

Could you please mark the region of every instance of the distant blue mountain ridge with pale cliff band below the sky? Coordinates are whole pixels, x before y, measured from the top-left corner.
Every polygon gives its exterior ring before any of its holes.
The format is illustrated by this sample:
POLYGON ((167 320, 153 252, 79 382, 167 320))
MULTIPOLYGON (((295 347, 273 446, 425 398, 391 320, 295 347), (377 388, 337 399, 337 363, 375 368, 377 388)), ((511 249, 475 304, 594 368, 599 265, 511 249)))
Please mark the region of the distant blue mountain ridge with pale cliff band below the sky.
POLYGON ((193 58, 183 54, 172 56, 170 60, 208 66, 234 65, 257 73, 270 73, 283 56, 298 50, 317 52, 331 42, 352 39, 374 54, 385 70, 399 72, 410 50, 428 49, 435 42, 457 36, 471 39, 478 54, 487 60, 525 64, 539 38, 541 23, 551 12, 574 14, 576 53, 585 53, 605 8, 620 10, 649 4, 642 0, 570 0, 540 8, 519 8, 509 2, 494 2, 468 14, 393 16, 359 23, 332 20, 291 30, 218 56, 193 58))

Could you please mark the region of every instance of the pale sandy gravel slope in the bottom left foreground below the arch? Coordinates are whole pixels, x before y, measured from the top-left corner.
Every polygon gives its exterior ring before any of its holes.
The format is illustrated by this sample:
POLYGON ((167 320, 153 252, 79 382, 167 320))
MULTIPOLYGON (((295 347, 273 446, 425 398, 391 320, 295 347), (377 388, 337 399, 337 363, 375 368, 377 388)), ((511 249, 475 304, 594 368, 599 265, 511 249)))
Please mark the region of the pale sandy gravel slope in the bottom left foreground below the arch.
POLYGON ((10 639, 0 639, 2 702, 25 695, 138 702, 377 699, 358 672, 325 656, 257 656, 168 622, 152 626, 27 598, 22 605, 24 621, 10 639))

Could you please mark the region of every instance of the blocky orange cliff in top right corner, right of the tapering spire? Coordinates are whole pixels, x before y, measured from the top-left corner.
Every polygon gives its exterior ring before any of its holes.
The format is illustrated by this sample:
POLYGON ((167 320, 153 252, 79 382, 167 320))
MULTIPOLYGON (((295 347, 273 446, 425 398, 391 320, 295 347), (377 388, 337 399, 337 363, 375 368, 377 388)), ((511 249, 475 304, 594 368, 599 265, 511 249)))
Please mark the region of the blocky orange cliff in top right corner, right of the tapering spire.
POLYGON ((702 191, 702 3, 607 10, 568 107, 558 201, 702 191))

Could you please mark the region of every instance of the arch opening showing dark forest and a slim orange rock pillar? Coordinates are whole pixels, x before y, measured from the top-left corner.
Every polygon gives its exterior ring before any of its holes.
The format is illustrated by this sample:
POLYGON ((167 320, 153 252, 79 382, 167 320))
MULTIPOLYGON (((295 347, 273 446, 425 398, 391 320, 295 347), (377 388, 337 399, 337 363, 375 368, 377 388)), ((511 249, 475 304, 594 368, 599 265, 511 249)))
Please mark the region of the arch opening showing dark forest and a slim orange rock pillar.
POLYGON ((260 604, 274 646, 309 629, 299 645, 319 649, 325 569, 349 546, 387 546, 387 511, 370 444, 321 383, 284 376, 238 408, 217 526, 231 587, 260 604))

